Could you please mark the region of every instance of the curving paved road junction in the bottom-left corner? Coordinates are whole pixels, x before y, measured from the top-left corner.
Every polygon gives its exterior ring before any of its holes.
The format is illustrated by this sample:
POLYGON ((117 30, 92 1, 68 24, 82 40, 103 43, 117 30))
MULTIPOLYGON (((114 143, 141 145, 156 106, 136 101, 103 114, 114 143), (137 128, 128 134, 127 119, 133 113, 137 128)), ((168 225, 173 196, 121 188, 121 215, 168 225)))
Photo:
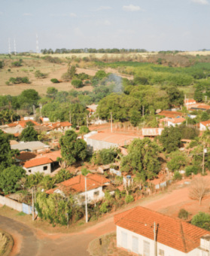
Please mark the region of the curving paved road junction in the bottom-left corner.
POLYGON ((43 236, 25 224, 1 215, 0 228, 14 237, 11 256, 90 256, 88 244, 97 237, 92 233, 43 236))

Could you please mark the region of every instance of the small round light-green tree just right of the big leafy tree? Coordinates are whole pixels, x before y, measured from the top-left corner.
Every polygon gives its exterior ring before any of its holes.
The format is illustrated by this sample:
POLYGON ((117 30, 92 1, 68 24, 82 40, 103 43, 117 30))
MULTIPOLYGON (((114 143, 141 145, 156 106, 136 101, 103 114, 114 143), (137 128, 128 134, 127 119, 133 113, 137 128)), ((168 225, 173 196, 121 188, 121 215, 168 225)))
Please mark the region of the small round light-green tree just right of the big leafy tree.
POLYGON ((170 170, 178 171, 181 166, 185 166, 187 164, 187 156, 180 151, 174 151, 171 154, 169 154, 169 157, 171 160, 167 163, 167 166, 170 170))

